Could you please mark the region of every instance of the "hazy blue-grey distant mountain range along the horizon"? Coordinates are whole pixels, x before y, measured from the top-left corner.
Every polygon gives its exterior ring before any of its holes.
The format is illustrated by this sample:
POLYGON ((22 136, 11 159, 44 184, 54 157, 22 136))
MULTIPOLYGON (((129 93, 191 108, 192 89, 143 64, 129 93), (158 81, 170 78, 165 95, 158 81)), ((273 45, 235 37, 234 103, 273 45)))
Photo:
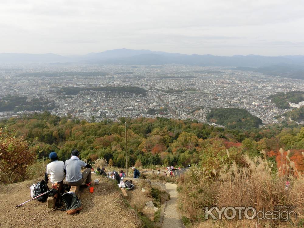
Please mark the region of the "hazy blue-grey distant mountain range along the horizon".
POLYGON ((186 55, 151 50, 115 49, 100 53, 89 53, 78 56, 61 56, 57 54, 0 54, 3 63, 88 63, 88 64, 127 64, 127 65, 159 65, 189 64, 200 66, 232 66, 232 67, 265 67, 277 64, 296 64, 304 66, 304 56, 261 56, 261 55, 186 55))

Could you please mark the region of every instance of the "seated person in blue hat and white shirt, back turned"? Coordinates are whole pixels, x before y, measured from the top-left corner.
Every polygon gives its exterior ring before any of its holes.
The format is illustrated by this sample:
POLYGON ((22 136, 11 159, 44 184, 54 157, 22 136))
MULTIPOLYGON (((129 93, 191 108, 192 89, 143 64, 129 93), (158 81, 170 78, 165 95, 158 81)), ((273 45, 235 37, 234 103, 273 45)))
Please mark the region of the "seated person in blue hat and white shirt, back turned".
POLYGON ((48 182, 49 180, 52 183, 60 183, 64 180, 64 162, 58 161, 58 156, 56 152, 51 152, 49 154, 51 162, 47 164, 47 171, 44 175, 44 180, 48 182))

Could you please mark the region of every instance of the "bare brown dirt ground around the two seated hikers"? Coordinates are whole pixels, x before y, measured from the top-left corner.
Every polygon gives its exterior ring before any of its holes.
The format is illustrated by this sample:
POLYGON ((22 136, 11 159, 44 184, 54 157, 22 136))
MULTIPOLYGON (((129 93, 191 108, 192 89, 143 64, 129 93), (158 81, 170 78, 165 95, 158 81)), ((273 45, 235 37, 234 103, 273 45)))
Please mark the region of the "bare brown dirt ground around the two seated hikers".
POLYGON ((14 208, 31 199, 30 186, 42 179, 0 186, 0 227, 142 227, 137 213, 126 206, 114 181, 95 174, 92 174, 92 179, 99 179, 99 185, 92 185, 94 193, 89 193, 87 188, 80 188, 83 210, 74 215, 48 209, 47 202, 36 200, 14 208))

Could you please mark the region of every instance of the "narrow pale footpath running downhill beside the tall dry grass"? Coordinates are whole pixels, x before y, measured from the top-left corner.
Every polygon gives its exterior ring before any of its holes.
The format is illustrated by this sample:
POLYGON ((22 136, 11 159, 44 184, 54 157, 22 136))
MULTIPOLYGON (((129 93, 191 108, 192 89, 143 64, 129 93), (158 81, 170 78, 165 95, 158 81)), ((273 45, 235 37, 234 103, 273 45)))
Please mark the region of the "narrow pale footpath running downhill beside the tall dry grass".
POLYGON ((163 228, 174 227, 182 228, 181 216, 177 210, 177 192, 176 184, 167 183, 166 188, 170 194, 170 200, 166 204, 164 211, 164 221, 161 225, 163 228))

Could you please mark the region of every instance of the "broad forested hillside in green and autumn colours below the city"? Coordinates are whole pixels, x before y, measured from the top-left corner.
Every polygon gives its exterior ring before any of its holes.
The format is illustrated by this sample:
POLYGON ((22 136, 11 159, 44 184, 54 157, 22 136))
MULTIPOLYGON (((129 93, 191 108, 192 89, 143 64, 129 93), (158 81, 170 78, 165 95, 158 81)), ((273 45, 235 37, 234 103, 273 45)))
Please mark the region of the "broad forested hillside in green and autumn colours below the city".
POLYGON ((24 137, 39 158, 56 151, 61 160, 66 160, 71 150, 78 149, 81 158, 89 162, 105 158, 115 166, 124 167, 125 122, 128 123, 129 165, 185 166, 204 162, 213 167, 216 157, 227 158, 226 149, 237 159, 243 154, 259 155, 260 150, 304 148, 304 128, 298 125, 230 130, 192 120, 165 118, 121 118, 120 122, 87 123, 45 112, 2 120, 0 128, 24 137))

